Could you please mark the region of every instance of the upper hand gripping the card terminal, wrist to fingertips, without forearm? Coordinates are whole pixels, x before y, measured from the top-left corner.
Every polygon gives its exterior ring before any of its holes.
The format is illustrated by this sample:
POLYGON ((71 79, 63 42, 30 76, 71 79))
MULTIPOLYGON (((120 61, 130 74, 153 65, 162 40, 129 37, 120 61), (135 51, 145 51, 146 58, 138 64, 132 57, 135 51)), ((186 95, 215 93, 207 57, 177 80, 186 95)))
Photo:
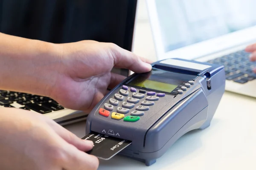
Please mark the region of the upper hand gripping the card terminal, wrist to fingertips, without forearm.
POLYGON ((136 73, 151 70, 150 61, 112 43, 86 40, 61 44, 61 48, 59 64, 51 74, 54 87, 48 96, 74 110, 90 111, 108 93, 107 88, 125 78, 111 73, 113 67, 136 73))

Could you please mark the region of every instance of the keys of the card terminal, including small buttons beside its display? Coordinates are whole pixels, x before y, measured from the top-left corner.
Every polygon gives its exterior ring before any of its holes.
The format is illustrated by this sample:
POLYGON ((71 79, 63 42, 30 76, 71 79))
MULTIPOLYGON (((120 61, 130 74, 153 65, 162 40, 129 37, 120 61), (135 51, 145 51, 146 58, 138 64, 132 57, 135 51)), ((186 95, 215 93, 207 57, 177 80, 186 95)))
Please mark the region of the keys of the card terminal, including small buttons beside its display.
MULTIPOLYGON (((183 94, 188 88, 194 85, 194 81, 183 83, 177 90, 177 94, 183 94)), ((154 91, 145 91, 123 85, 122 88, 99 109, 99 114, 111 119, 124 122, 137 122, 153 105, 156 105, 166 94, 154 91), (110 113, 112 112, 112 113, 110 113)))

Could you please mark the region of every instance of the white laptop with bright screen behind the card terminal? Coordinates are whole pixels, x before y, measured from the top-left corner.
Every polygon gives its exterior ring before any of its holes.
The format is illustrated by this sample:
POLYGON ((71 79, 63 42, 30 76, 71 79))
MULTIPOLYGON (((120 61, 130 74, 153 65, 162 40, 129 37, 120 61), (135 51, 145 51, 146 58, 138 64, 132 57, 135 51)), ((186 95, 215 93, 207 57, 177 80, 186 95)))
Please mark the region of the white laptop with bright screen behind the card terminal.
POLYGON ((192 59, 224 65, 226 91, 256 97, 255 0, 146 0, 157 60, 192 59))

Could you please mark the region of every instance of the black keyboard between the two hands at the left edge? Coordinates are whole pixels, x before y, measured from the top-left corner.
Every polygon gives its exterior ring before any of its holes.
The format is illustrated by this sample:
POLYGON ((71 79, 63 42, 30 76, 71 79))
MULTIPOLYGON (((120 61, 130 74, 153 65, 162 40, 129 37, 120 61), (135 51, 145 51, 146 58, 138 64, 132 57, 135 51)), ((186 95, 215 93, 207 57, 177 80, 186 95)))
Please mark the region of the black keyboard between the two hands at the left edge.
POLYGON ((49 97, 3 90, 0 90, 0 107, 32 110, 41 114, 64 109, 58 102, 49 97))

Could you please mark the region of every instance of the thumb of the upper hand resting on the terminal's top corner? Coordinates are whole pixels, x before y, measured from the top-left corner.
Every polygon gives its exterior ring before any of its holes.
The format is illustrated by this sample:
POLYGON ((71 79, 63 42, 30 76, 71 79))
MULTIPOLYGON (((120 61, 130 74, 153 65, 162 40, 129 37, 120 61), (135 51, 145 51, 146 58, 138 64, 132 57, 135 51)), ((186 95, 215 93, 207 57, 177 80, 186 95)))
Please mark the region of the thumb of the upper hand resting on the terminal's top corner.
POLYGON ((149 59, 139 57, 136 54, 114 44, 111 44, 110 49, 115 67, 126 68, 134 71, 135 73, 151 71, 152 67, 149 63, 152 63, 152 61, 149 59))

